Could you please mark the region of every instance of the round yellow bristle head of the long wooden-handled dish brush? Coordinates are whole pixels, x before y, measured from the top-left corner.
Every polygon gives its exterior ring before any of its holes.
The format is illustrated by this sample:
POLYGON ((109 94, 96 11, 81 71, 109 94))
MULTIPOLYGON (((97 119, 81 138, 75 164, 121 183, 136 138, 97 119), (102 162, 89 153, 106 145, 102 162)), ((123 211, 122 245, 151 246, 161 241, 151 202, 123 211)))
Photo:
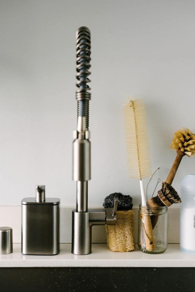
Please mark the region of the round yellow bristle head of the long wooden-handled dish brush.
POLYGON ((189 129, 183 128, 175 132, 170 148, 181 150, 188 157, 194 156, 195 153, 195 134, 189 129))

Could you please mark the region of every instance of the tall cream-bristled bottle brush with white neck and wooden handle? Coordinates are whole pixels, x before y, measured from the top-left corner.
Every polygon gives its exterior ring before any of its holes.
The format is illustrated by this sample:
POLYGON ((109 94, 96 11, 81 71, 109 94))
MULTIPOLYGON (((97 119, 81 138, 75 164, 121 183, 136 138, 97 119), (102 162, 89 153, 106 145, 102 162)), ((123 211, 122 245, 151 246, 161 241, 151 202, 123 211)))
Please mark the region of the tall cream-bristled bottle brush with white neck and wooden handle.
MULTIPOLYGON (((131 178, 140 180, 142 206, 147 206, 143 178, 151 175, 149 143, 145 108, 141 101, 131 100, 124 106, 124 121, 127 148, 128 171, 131 178)), ((142 214, 142 226, 146 249, 155 249, 154 235, 150 215, 142 214)))

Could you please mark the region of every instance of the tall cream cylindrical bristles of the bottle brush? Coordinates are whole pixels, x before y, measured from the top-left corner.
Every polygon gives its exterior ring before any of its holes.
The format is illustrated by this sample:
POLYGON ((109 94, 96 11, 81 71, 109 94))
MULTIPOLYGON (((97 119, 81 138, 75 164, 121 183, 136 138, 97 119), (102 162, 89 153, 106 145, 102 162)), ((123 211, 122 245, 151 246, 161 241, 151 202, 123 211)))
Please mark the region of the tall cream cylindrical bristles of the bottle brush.
POLYGON ((131 100, 123 108, 128 171, 131 178, 149 177, 151 165, 144 104, 131 100))

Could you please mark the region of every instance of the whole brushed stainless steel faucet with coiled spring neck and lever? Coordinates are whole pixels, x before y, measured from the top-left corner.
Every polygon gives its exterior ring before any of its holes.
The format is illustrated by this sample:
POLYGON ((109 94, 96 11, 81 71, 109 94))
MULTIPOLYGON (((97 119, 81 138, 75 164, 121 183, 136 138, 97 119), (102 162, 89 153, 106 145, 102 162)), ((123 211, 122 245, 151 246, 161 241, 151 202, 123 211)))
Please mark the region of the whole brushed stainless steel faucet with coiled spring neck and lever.
POLYGON ((88 76, 90 72, 90 30, 76 32, 77 130, 73 132, 73 180, 76 181, 76 209, 72 211, 72 253, 91 253, 93 225, 116 224, 118 198, 114 208, 88 209, 88 180, 91 178, 88 76))

